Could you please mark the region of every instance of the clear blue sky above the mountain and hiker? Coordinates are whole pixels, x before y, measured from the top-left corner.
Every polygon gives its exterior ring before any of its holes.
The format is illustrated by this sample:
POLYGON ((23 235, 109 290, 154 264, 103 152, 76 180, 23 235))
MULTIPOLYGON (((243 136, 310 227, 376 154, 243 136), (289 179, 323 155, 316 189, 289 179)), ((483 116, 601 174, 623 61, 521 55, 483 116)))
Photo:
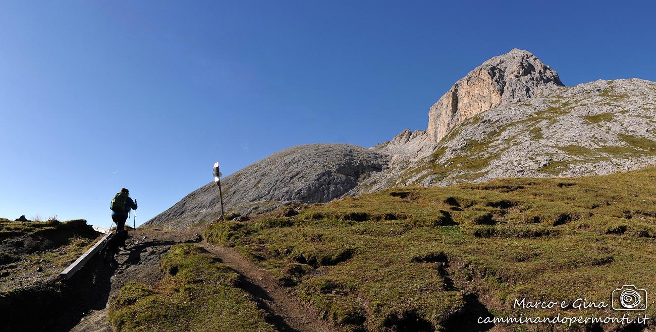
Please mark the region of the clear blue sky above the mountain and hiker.
POLYGON ((369 147, 522 48, 573 85, 656 81, 650 1, 2 1, 0 217, 137 223, 291 145, 369 147), (409 5, 412 3, 412 5, 409 5))

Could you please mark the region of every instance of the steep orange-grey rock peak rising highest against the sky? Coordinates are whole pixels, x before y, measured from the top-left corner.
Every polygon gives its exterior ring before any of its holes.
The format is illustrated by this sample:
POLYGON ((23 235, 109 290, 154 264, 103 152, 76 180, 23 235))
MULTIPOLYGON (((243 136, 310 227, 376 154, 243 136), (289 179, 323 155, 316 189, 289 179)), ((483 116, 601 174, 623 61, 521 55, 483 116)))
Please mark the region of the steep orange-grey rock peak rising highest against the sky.
POLYGON ((562 85, 556 71, 531 52, 515 48, 470 71, 430 107, 428 138, 440 141, 463 120, 562 85))

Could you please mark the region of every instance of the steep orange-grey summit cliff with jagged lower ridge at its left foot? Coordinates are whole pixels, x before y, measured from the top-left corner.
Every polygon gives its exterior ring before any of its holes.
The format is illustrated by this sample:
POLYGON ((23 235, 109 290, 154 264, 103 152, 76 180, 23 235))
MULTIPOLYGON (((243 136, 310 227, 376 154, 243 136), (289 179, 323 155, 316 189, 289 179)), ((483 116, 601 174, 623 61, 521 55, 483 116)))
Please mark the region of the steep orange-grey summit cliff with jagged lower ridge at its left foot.
MULTIPOLYGON (((391 141, 372 147, 390 158, 386 172, 373 175, 350 195, 412 183, 402 178, 420 160, 431 162, 441 139, 462 121, 488 109, 526 100, 550 87, 562 86, 558 73, 531 52, 517 48, 495 56, 470 71, 435 103, 428 113, 428 129, 403 130, 391 141)), ((432 160, 434 161, 434 160, 432 160)))

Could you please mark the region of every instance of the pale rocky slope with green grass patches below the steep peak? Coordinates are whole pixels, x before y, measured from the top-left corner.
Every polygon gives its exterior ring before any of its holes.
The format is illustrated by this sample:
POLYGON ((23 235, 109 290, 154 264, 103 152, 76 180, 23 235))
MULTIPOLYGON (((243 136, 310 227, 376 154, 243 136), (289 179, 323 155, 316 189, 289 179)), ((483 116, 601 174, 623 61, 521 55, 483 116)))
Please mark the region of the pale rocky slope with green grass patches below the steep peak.
POLYGON ((656 83, 554 87, 464 120, 417 162, 390 165, 351 193, 500 177, 600 175, 656 164, 656 83))

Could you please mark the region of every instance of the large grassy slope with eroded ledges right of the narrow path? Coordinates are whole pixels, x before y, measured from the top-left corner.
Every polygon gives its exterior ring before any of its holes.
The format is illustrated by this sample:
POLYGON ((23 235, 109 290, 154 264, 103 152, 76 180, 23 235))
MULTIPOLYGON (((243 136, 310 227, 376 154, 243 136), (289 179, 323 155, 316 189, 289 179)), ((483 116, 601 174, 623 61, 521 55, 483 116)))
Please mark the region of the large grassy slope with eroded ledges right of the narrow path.
POLYGON ((205 236, 277 274, 344 330, 449 329, 463 316, 517 314, 522 297, 609 303, 623 284, 656 289, 655 179, 646 168, 396 188, 217 223, 205 236))

